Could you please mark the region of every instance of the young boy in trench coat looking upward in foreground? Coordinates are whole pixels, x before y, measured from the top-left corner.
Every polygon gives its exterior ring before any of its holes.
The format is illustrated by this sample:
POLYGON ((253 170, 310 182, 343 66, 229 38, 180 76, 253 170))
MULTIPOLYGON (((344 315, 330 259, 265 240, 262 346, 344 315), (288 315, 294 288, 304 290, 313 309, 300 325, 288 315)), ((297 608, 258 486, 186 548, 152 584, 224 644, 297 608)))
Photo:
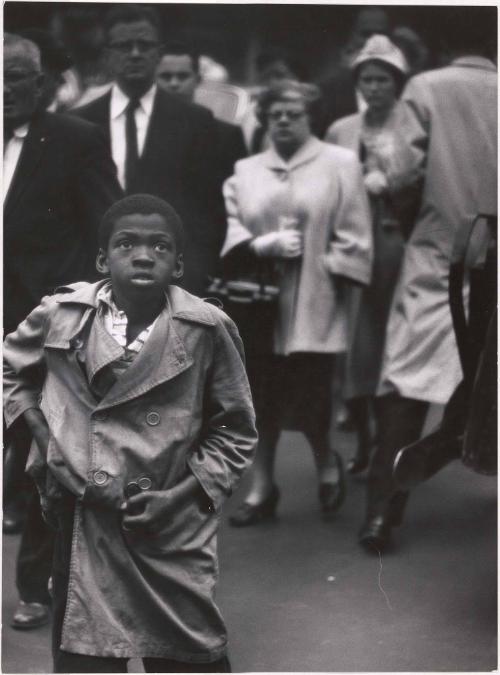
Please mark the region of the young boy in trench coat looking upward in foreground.
POLYGON ((4 346, 5 416, 57 525, 54 672, 227 672, 214 603, 222 502, 256 444, 234 324, 170 282, 182 224, 115 203, 97 269, 46 297, 4 346))

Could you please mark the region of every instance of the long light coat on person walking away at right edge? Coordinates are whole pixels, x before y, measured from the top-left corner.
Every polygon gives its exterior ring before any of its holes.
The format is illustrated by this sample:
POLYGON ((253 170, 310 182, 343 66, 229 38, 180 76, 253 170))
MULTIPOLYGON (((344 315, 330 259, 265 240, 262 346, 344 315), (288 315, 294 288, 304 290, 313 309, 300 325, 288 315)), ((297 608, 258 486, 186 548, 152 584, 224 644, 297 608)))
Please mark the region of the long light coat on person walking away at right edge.
MULTIPOLYGON (((378 393, 446 403, 462 379, 448 300, 456 231, 496 175, 497 73, 478 56, 413 77, 403 101, 424 149, 420 209, 406 246, 387 326, 378 393)), ((495 200, 496 201, 496 200, 495 200)))

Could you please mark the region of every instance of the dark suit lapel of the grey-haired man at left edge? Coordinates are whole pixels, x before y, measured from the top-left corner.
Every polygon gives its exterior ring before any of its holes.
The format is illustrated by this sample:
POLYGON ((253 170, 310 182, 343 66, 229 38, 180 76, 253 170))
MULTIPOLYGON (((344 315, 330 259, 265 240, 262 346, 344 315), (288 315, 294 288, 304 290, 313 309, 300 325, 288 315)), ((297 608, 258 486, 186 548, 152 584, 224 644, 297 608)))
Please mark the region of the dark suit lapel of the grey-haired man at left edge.
POLYGON ((44 117, 33 120, 24 140, 23 149, 5 201, 5 217, 12 211, 16 202, 28 187, 49 143, 50 134, 44 117))

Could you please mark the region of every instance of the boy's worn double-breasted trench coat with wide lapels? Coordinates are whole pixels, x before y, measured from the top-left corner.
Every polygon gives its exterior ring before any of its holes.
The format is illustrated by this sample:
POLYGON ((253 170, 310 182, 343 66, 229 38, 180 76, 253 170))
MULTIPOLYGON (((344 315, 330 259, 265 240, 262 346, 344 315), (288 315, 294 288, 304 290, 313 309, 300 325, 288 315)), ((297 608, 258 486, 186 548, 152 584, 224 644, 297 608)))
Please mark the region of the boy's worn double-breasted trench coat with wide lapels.
POLYGON ((101 285, 44 298, 4 347, 7 424, 38 406, 49 424, 46 455, 35 446, 28 462, 42 501, 50 509, 60 486, 77 498, 60 647, 210 662, 226 645, 214 603, 220 507, 256 444, 241 341, 222 311, 172 286, 144 347, 98 401, 87 377, 122 353, 94 319, 101 285), (129 481, 168 490, 189 471, 212 508, 195 500, 154 536, 123 532, 129 481))

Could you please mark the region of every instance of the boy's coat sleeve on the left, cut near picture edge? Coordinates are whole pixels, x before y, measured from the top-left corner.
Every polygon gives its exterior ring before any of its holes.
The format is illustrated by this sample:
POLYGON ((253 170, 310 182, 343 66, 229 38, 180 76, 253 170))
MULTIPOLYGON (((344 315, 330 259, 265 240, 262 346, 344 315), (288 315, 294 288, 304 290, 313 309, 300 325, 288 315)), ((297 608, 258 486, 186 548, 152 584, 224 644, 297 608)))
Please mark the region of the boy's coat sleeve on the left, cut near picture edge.
POLYGON ((5 338, 3 393, 7 427, 29 408, 40 408, 45 377, 45 324, 51 302, 51 298, 43 298, 17 330, 5 338))

